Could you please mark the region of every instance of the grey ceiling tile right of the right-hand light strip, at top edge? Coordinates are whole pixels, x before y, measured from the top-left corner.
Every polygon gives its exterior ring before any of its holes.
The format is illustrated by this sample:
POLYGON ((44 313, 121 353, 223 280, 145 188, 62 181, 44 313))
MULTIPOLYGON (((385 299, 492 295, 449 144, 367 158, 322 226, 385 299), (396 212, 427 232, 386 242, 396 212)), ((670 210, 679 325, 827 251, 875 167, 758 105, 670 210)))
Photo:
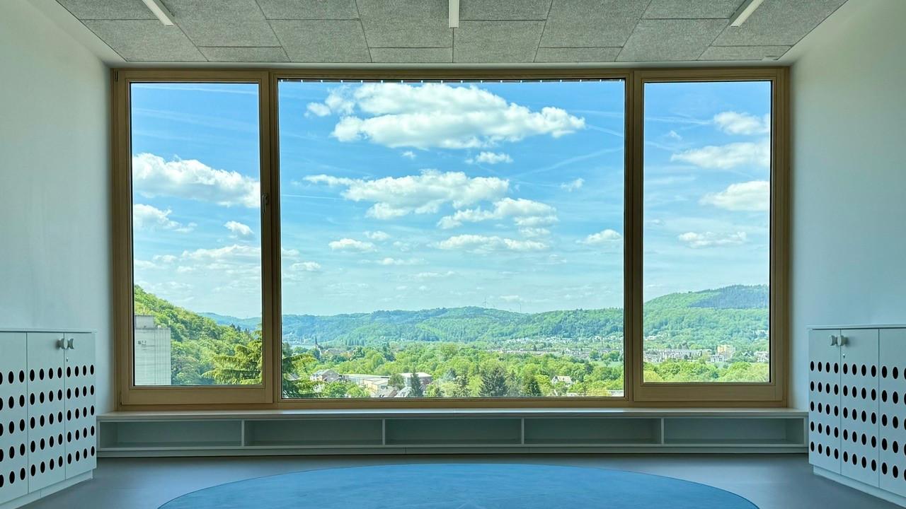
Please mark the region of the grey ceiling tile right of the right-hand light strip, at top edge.
POLYGON ((713 45, 792 46, 845 2, 846 0, 765 0, 742 26, 728 26, 713 45))

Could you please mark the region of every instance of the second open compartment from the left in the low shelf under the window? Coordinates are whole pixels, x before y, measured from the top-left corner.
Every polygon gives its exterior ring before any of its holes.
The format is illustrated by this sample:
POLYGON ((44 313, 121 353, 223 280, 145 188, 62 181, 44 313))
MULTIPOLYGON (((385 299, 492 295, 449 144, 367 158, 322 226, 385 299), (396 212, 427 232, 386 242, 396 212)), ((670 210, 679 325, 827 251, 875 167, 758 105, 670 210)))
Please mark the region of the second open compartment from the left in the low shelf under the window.
POLYGON ((381 419, 246 420, 247 447, 381 446, 381 419))

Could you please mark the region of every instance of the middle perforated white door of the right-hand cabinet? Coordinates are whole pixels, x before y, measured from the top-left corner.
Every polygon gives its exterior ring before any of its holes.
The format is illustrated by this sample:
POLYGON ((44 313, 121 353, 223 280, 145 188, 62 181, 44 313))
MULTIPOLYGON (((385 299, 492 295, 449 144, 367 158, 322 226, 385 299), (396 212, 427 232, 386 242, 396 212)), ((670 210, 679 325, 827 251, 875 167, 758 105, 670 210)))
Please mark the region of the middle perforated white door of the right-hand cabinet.
POLYGON ((843 464, 840 473, 877 486, 881 466, 878 450, 878 330, 841 331, 843 374, 843 464))

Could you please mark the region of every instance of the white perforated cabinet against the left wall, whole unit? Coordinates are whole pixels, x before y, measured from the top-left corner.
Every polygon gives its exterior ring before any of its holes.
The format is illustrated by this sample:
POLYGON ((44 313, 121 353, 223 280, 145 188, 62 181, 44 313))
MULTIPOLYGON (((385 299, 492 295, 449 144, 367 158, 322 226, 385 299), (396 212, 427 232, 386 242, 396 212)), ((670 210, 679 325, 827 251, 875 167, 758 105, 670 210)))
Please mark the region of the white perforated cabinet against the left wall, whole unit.
POLYGON ((0 331, 0 505, 94 468, 94 370, 92 332, 0 331))

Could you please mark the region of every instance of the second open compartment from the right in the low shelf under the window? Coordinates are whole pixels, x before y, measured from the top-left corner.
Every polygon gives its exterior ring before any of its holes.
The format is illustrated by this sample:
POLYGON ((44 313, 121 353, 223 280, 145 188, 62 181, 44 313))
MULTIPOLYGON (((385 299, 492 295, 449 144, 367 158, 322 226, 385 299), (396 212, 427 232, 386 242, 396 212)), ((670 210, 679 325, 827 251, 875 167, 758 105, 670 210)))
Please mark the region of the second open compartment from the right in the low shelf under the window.
POLYGON ((660 444, 660 418, 526 418, 525 445, 660 444))

